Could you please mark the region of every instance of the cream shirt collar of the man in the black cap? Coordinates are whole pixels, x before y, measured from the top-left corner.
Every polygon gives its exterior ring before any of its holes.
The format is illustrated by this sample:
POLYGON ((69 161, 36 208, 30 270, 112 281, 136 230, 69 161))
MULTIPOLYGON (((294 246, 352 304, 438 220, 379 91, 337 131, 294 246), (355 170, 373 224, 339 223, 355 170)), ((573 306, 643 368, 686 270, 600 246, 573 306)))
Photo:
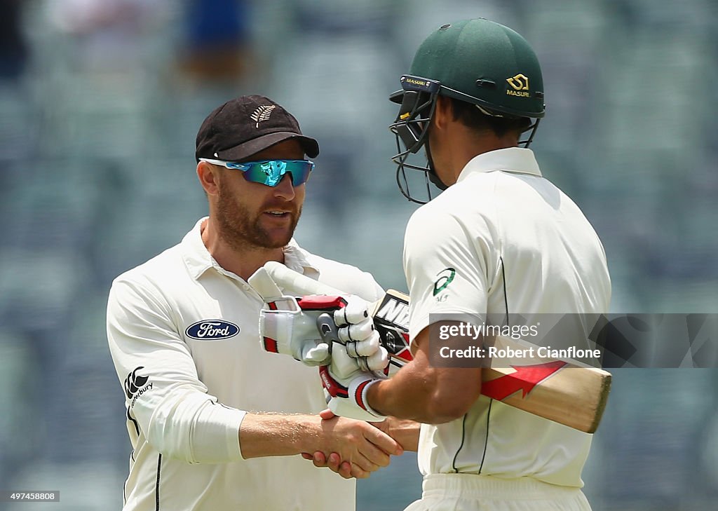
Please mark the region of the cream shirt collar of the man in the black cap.
MULTIPOLYGON (((195 227, 182 239, 182 252, 185 265, 187 265, 187 270, 190 271, 190 275, 195 280, 200 278, 202 274, 210 268, 215 268, 215 270, 220 273, 228 273, 228 271, 215 261, 215 258, 212 257, 210 251, 207 250, 205 243, 202 241, 202 223, 207 219, 208 217, 200 218, 195 224, 195 227)), ((319 270, 309 262, 307 253, 299 247, 294 238, 289 240, 289 243, 284 247, 284 264, 287 268, 298 271, 299 273, 304 273, 304 275, 311 277, 319 276, 319 270)))

